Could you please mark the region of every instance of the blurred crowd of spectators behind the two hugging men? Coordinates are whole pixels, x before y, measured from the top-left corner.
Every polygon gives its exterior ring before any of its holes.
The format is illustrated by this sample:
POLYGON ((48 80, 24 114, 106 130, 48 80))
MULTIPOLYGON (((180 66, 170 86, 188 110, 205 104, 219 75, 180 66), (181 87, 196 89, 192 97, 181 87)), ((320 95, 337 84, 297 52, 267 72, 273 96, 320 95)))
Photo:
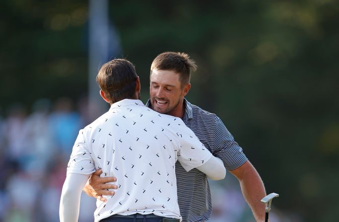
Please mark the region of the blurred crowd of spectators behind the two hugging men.
MULTIPOLYGON (((69 155, 79 129, 90 121, 85 101, 39 99, 29 112, 15 104, 0 116, 0 222, 59 221, 69 155)), ((211 187, 211 222, 253 220, 236 180, 228 176, 211 187)), ((79 222, 93 221, 95 201, 82 194, 79 222)), ((290 221, 280 218, 274 221, 290 221)))

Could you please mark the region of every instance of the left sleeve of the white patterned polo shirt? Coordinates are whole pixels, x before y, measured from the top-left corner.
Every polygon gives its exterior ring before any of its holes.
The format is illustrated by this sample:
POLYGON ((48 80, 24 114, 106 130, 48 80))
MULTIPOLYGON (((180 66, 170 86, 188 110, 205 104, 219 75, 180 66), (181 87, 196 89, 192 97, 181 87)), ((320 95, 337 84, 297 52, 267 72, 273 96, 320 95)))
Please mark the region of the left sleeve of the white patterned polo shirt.
POLYGON ((67 173, 91 174, 95 171, 94 161, 84 134, 84 130, 80 130, 75 140, 67 165, 67 173))

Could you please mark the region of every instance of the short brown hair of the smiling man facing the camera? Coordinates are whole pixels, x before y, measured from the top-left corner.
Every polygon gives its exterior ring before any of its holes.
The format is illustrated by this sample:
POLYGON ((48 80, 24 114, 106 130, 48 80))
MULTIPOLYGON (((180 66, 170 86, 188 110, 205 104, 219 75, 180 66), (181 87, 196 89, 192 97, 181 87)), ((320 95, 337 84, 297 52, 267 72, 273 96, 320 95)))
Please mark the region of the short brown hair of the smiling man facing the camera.
POLYGON ((184 87, 186 83, 190 82, 191 71, 196 71, 197 65, 186 53, 164 52, 153 60, 150 75, 152 75, 153 69, 174 71, 180 75, 179 79, 184 87))

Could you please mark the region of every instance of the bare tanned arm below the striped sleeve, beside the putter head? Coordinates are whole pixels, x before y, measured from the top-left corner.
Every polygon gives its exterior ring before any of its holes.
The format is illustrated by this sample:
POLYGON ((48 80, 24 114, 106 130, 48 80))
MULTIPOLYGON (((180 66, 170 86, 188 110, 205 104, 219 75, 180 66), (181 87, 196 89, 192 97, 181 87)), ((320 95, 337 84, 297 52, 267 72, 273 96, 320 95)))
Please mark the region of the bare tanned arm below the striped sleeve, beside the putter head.
POLYGON ((266 196, 265 187, 257 170, 250 163, 246 161, 230 172, 239 180, 243 196, 252 209, 254 218, 257 222, 265 221, 265 204, 261 203, 261 199, 266 196))

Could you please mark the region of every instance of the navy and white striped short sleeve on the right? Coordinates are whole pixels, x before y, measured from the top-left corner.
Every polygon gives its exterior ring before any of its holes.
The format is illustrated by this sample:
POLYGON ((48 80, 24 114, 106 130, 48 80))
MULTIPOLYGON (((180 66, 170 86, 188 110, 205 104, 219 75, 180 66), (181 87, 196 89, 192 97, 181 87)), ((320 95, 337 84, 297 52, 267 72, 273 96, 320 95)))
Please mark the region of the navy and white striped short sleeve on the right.
POLYGON ((234 170, 247 161, 243 149, 234 141, 219 117, 215 120, 214 146, 213 155, 223 161, 227 170, 234 170))

